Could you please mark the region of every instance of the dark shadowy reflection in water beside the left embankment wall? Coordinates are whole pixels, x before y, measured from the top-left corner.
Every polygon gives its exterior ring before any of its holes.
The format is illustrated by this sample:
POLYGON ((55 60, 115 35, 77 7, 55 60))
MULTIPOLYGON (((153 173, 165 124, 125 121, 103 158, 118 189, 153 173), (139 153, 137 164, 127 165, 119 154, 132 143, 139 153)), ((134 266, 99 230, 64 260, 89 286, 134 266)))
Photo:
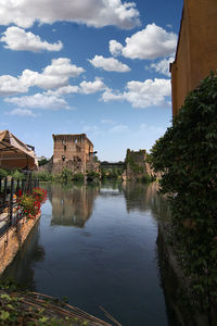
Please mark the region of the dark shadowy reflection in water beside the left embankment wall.
POLYGON ((27 237, 22 250, 18 252, 13 263, 3 273, 1 279, 15 279, 22 288, 36 290, 35 263, 44 260, 44 250, 39 244, 39 222, 35 225, 27 237))

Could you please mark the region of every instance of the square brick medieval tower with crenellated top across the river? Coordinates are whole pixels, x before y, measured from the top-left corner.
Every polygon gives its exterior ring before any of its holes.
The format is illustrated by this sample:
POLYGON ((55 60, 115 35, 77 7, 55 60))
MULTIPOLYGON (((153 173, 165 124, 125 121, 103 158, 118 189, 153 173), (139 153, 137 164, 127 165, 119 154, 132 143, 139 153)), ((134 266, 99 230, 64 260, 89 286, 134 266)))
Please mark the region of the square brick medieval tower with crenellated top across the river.
POLYGON ((86 134, 52 136, 53 174, 61 173, 63 167, 67 167, 74 173, 98 172, 99 164, 94 161, 93 145, 86 134))

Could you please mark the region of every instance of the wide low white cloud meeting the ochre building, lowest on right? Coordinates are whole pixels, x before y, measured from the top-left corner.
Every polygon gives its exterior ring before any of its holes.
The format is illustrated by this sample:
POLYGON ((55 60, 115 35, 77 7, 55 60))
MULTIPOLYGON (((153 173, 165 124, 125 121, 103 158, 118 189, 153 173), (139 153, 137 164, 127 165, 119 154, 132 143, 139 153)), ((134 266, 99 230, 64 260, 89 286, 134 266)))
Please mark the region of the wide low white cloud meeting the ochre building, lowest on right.
POLYGON ((170 97, 171 86, 169 79, 146 79, 144 82, 131 80, 127 83, 126 90, 115 93, 107 89, 102 95, 104 102, 126 100, 133 108, 168 106, 167 97, 170 97))

